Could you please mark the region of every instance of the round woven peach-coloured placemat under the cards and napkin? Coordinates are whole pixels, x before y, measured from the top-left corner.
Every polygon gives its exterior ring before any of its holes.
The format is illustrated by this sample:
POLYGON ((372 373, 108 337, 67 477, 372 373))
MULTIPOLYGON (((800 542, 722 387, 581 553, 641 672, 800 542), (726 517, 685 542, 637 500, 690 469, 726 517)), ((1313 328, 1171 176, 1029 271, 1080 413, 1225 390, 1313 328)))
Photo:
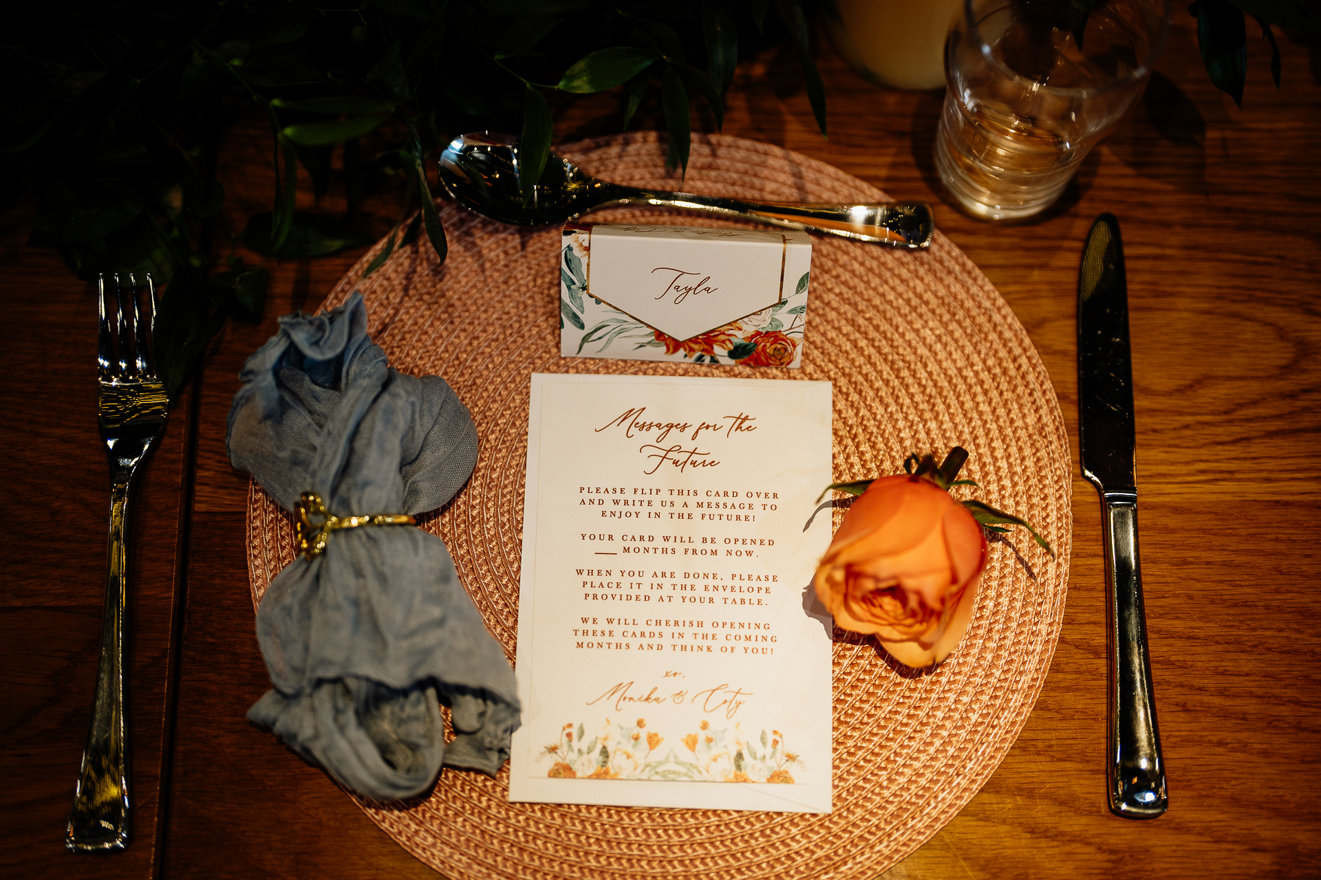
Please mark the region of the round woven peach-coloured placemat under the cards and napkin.
MULTIPOLYGON (((678 189, 655 133, 564 146, 587 172, 678 189)), ((684 187, 801 202, 885 201, 843 172, 777 146, 694 137, 684 187)), ((621 208, 598 222, 737 226, 621 208)), ((559 356, 559 228, 515 230, 443 203, 449 257, 411 247, 358 281, 380 244, 324 303, 366 297, 394 367, 443 376, 477 422, 469 484, 423 528, 449 546, 486 625, 514 658, 528 375, 594 372, 830 380, 835 479, 901 470, 911 451, 970 450, 976 497, 1034 522, 1050 559, 1015 538, 991 548, 968 635, 934 672, 900 666, 836 631, 834 811, 828 815, 510 803, 491 780, 446 769, 425 798, 362 809, 410 852, 456 879, 875 877, 967 803, 1022 728, 1063 617, 1071 540, 1070 458, 1054 391, 1028 334, 982 272, 937 235, 922 253, 814 237, 802 369, 559 356)), ((839 513, 836 513, 836 517, 839 513)), ((254 603, 293 559, 289 517, 256 486, 248 504, 254 603)), ((254 694, 254 698, 256 694, 254 694)))

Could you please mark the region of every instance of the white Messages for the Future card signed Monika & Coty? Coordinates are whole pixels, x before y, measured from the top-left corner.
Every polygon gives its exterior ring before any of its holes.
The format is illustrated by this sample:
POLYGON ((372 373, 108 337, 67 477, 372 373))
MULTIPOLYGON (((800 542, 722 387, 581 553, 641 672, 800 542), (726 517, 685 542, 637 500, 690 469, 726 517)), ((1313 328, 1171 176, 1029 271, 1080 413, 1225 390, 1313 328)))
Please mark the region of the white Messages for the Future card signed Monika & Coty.
POLYGON ((534 375, 510 800, 828 813, 831 384, 534 375))

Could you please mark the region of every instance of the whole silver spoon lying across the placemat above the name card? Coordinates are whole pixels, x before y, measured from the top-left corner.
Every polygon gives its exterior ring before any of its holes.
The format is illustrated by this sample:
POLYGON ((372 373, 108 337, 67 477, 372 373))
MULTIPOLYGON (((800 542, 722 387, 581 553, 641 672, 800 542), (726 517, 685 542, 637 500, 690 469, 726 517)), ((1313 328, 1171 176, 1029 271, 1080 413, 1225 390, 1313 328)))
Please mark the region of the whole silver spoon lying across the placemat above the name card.
POLYGON ((546 173, 524 206, 518 175, 518 139, 510 135, 460 135, 440 154, 440 182, 450 198, 482 216, 515 226, 563 223, 621 204, 655 204, 744 216, 793 230, 812 228, 896 248, 925 248, 935 231, 926 202, 801 204, 642 190, 598 181, 555 153, 547 158, 546 173))

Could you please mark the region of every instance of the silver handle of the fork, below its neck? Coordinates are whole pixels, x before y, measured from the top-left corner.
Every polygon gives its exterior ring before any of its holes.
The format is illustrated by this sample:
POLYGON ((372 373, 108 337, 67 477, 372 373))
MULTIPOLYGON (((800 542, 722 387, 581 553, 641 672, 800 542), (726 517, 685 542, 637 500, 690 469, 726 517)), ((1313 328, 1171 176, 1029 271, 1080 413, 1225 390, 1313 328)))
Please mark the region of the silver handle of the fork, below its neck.
POLYGON ((128 491, 129 480, 115 480, 110 492, 110 558, 96 702, 65 833, 65 847, 74 852, 123 850, 128 844, 128 730, 124 723, 128 491))

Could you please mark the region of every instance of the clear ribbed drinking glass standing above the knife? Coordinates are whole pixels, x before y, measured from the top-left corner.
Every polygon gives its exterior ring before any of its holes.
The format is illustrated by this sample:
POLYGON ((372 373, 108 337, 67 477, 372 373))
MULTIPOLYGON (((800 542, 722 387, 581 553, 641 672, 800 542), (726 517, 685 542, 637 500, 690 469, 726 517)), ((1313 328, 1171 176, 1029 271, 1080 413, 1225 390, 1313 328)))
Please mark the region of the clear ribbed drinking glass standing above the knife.
POLYGON ((964 0, 945 45, 935 166, 968 212, 1025 218, 1063 191, 1132 106, 1170 0, 1096 0, 1079 45, 1069 0, 964 0))

